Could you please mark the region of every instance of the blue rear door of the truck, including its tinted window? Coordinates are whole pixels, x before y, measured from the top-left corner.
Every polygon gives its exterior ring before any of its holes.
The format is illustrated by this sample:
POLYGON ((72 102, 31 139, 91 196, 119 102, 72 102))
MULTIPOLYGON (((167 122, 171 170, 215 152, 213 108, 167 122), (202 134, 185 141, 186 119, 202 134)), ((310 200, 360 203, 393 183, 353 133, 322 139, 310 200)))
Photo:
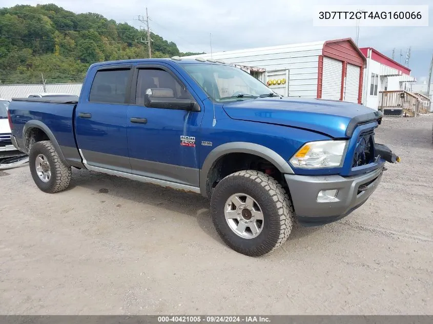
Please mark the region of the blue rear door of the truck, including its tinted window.
POLYGON ((76 139, 88 165, 131 172, 127 120, 131 64, 102 67, 90 73, 75 112, 76 139))

